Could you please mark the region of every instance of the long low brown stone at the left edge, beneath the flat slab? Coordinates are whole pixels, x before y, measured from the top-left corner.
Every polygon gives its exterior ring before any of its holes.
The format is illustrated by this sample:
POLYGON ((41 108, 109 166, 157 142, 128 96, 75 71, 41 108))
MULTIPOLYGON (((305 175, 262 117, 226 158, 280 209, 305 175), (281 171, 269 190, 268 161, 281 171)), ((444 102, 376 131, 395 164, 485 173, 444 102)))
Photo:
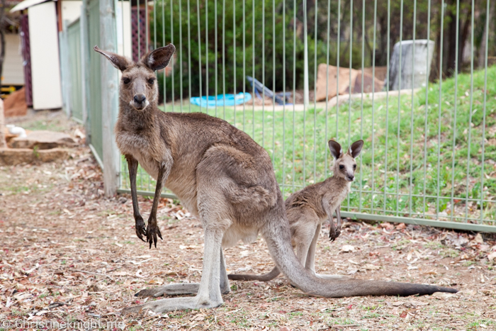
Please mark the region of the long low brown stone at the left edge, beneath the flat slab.
POLYGON ((1 148, 0 165, 16 165, 35 161, 52 162, 67 159, 69 152, 61 148, 51 150, 30 150, 29 148, 1 148))

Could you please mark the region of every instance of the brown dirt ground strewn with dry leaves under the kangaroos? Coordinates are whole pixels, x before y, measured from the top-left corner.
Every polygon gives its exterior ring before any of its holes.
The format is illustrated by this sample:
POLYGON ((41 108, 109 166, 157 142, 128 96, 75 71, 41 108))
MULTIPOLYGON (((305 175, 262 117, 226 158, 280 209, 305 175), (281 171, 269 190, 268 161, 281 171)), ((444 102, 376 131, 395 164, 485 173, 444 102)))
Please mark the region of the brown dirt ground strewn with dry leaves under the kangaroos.
MULTIPOLYGON (((57 113, 18 123, 82 130, 57 113)), ((64 162, 0 167, 0 194, 0 330, 496 330, 491 235, 348 221, 329 242, 322 230, 321 274, 453 286, 456 294, 315 298, 280 276, 232 281, 219 308, 123 316, 146 301, 134 296, 142 288, 200 281, 199 220, 162 199, 164 240, 148 249, 135 235, 130 197, 103 196, 101 171, 82 145, 64 162)), ((143 214, 151 204, 140 198, 143 214)), ((235 273, 273 267, 260 239, 225 257, 235 273)))

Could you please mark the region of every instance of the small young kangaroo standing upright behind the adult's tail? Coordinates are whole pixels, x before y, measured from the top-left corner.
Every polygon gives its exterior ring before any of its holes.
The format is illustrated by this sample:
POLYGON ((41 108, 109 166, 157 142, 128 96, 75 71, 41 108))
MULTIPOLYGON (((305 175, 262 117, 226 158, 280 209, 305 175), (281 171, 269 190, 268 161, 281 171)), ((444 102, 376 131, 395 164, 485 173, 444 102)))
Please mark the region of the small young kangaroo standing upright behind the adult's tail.
MULTIPOLYGON (((329 150, 334 157, 333 174, 320 183, 305 187, 286 199, 286 213, 291 229, 291 244, 296 249, 296 256, 305 269, 315 274, 315 248, 319 239, 320 229, 325 220, 331 223, 329 238, 335 240, 341 233, 341 203, 348 195, 351 181, 356 170, 355 158, 360 154, 363 140, 354 142, 346 153, 341 145, 329 140, 329 150), (334 226, 332 213, 336 212, 337 225, 334 226)), ((268 274, 229 274, 229 279, 242 281, 271 281, 281 272, 274 267, 268 274)), ((321 275, 322 279, 350 279, 347 276, 321 275)))

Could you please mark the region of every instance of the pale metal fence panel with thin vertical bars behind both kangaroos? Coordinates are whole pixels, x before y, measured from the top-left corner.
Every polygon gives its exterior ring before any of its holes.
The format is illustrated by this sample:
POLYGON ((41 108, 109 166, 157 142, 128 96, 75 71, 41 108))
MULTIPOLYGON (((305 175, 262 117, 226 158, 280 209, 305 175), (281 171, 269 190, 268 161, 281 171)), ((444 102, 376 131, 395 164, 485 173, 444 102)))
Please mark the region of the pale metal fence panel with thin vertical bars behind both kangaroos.
MULTIPOLYGON (((135 58, 176 45, 157 73, 163 110, 244 130, 271 155, 285 198, 331 175, 327 140, 363 139, 344 216, 496 232, 490 1, 163 0, 130 12, 137 33, 123 43, 135 58), (258 96, 248 76, 281 94, 258 96), (239 92, 252 100, 220 105, 239 92), (205 107, 192 96, 219 97, 205 107)), ((129 191, 125 162, 120 179, 129 191)), ((140 193, 154 185, 140 168, 140 193)))

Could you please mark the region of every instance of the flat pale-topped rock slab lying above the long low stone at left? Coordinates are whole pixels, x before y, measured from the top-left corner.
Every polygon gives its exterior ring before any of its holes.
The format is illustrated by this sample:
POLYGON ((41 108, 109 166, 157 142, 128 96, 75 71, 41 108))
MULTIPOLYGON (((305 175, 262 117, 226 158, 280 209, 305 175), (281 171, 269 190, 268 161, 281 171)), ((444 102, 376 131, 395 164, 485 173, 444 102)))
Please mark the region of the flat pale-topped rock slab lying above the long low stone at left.
POLYGON ((11 148, 31 148, 49 150, 55 147, 73 147, 76 141, 67 133, 52 131, 31 131, 26 138, 13 138, 9 143, 11 148))

